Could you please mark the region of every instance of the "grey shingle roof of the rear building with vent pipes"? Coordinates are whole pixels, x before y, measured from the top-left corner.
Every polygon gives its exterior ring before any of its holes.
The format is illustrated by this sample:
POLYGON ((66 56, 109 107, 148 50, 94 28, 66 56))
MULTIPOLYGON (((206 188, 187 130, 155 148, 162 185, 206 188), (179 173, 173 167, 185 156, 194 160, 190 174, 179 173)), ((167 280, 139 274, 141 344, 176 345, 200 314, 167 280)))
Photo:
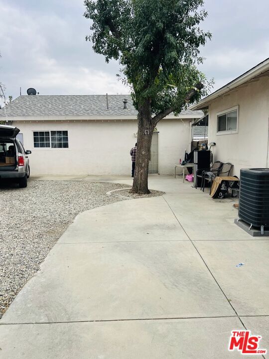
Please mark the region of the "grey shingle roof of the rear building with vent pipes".
MULTIPOLYGON (((136 116, 130 95, 37 95, 19 96, 6 105, 7 116, 136 116), (123 100, 127 98, 127 110, 123 100)), ((0 117, 5 116, 0 109, 0 117)), ((182 114, 197 114, 201 111, 183 110, 182 114)), ((201 112, 202 113, 202 112, 201 112)))

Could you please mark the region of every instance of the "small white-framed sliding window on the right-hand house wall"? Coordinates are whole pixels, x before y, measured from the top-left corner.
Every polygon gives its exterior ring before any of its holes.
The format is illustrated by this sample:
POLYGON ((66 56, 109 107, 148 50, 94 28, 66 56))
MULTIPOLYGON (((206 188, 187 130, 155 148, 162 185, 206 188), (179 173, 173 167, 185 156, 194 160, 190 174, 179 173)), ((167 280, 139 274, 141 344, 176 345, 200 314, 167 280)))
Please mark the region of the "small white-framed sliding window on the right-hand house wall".
POLYGON ((217 135, 238 133, 239 106, 217 113, 217 135))

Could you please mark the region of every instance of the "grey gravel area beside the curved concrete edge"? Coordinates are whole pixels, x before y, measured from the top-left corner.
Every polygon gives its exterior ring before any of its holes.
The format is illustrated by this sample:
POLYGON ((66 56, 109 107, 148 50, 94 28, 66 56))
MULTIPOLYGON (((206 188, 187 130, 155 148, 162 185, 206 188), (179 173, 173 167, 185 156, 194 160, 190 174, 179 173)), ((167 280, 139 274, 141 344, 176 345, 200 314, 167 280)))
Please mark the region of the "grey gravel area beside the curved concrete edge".
POLYGON ((0 186, 0 318, 74 217, 123 200, 106 192, 124 187, 45 180, 29 180, 27 188, 0 186))

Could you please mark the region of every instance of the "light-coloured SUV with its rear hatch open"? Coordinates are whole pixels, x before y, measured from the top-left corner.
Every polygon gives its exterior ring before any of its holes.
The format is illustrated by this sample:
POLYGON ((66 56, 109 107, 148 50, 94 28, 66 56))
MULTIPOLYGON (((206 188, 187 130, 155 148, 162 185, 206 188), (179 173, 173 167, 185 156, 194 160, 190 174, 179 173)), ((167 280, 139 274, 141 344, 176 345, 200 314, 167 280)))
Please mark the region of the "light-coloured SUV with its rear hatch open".
POLYGON ((30 176, 28 155, 21 142, 16 139, 19 129, 0 125, 0 180, 15 179, 19 187, 27 187, 30 176))

